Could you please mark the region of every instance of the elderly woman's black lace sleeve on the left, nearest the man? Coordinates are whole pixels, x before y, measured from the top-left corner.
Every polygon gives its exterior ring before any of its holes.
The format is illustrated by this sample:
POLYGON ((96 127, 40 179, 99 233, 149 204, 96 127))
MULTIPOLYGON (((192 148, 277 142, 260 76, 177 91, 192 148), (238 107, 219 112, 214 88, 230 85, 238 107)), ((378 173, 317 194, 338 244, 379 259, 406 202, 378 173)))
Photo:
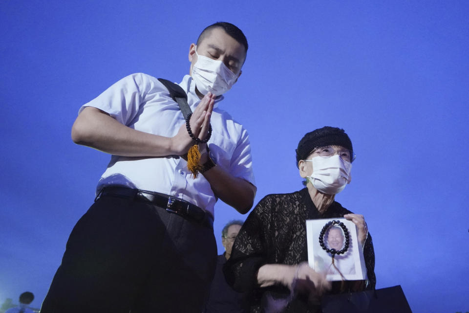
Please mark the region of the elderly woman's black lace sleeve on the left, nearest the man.
POLYGON ((267 223, 271 204, 267 196, 249 214, 236 236, 231 257, 223 268, 228 284, 236 291, 252 291, 258 286, 257 270, 267 262, 267 223))

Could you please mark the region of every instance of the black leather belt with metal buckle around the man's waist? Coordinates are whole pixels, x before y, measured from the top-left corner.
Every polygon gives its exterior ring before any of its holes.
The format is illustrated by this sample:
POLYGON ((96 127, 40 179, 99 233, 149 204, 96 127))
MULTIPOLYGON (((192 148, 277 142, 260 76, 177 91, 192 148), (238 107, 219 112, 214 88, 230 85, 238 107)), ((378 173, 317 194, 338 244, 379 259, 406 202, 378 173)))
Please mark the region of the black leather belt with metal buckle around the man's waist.
POLYGON ((135 201, 151 203, 160 208, 166 209, 170 213, 175 213, 185 219, 213 228, 212 214, 196 205, 193 205, 192 203, 172 198, 165 194, 121 186, 109 186, 101 190, 96 197, 96 200, 105 196, 134 199, 135 201))

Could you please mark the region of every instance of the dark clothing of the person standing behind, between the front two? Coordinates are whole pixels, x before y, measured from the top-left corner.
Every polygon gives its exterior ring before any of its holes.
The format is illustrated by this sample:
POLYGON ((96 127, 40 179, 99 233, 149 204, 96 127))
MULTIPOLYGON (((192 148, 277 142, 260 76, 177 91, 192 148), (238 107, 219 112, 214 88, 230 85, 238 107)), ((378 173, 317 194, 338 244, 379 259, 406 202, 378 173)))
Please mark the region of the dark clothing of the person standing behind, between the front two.
POLYGON ((226 282, 223 265, 226 263, 225 254, 217 258, 215 276, 210 287, 209 301, 204 313, 247 313, 245 299, 247 295, 234 291, 226 282))

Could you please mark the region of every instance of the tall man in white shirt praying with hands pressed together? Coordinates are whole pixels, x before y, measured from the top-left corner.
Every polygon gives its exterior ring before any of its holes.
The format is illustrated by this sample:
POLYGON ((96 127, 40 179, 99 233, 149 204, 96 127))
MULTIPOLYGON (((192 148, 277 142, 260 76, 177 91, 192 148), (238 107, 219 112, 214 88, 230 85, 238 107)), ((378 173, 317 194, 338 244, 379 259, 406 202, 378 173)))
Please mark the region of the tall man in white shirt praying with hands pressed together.
POLYGON ((247 49, 226 22, 191 44, 190 75, 179 84, 193 112, 187 121, 168 89, 143 73, 80 109, 73 141, 112 157, 41 312, 202 311, 216 263, 213 205, 221 199, 244 214, 256 194, 249 136, 218 108, 247 49), (199 175, 186 161, 196 143, 199 175))

